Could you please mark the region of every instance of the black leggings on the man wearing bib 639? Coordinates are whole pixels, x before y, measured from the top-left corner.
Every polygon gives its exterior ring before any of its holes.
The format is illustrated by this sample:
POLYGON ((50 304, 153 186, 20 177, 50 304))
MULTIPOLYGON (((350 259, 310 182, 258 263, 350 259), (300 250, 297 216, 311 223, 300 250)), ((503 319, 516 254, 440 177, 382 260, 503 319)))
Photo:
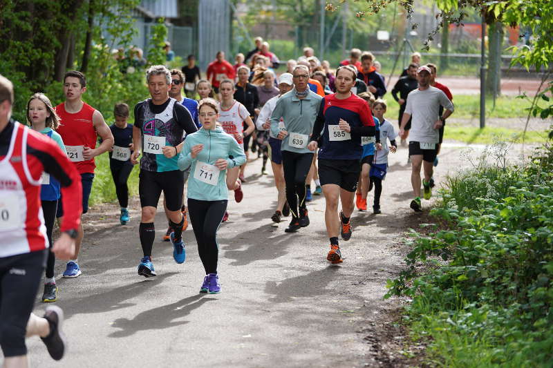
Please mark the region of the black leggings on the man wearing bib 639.
POLYGON ((282 151, 286 200, 292 217, 295 218, 299 217, 298 206, 300 209, 306 209, 306 178, 312 161, 312 153, 282 151))

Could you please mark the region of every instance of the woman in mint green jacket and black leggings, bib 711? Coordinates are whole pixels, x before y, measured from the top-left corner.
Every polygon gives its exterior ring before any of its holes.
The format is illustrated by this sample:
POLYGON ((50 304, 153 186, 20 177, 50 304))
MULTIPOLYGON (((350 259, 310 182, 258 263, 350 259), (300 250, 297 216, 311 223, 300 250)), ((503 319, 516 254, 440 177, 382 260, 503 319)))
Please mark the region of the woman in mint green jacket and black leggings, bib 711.
POLYGON ((217 274, 217 230, 227 210, 227 168, 244 164, 243 146, 217 125, 219 109, 214 99, 203 99, 198 107, 202 128, 188 135, 178 157, 178 167, 190 167, 188 213, 198 253, 205 269, 200 293, 221 292, 217 274))

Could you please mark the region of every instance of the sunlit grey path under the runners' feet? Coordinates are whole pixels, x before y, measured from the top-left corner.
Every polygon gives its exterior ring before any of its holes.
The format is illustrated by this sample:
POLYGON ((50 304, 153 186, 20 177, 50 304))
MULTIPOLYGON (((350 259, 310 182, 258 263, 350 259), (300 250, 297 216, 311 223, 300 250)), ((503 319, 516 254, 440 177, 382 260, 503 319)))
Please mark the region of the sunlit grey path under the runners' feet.
MULTIPOLYGON (((466 164, 460 149, 442 148, 438 181, 466 164)), ((270 221, 272 175, 261 177, 256 159, 246 171, 243 202, 229 202, 230 221, 219 232, 223 292, 216 296, 198 293, 203 267, 191 228, 184 233, 187 261, 179 265, 161 241, 167 222, 156 217, 158 277, 145 279, 136 273, 136 200, 126 226, 113 204, 93 208, 84 217, 83 275, 58 280, 68 354, 53 362, 39 338, 30 338, 31 366, 406 367, 397 352, 404 336, 393 324, 400 302, 382 299, 386 279, 402 267, 404 233, 421 221, 409 209, 406 155, 406 148, 391 155, 382 215, 355 211, 353 237, 341 242, 344 263, 337 266, 326 261, 324 198, 308 204, 308 228, 284 233, 288 221, 270 221)), ((57 262, 58 276, 63 266, 57 262)), ((36 312, 44 307, 37 298, 36 312)))

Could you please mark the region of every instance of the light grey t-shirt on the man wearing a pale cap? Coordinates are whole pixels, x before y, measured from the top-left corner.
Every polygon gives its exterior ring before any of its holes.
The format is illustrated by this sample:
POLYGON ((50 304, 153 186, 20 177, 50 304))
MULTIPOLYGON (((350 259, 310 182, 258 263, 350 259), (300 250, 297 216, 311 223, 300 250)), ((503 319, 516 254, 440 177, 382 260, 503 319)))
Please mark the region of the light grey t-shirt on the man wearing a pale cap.
MULTIPOLYGON (((411 114, 411 142, 438 143, 439 131, 434 129, 440 117, 440 105, 453 111, 453 103, 438 88, 429 86, 426 90, 412 90, 407 95, 405 113, 411 114)), ((382 141, 384 142, 384 141, 382 141)))

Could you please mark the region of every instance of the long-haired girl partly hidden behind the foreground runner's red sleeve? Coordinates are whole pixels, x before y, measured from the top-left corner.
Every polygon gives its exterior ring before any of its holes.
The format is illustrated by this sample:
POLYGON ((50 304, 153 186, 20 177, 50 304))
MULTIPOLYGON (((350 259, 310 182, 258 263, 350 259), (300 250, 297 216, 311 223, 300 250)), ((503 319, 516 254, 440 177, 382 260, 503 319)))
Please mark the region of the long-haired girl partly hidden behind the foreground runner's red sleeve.
MULTIPOLYGON (((50 99, 42 93, 35 93, 27 102, 27 123, 32 130, 47 135, 54 139, 64 153, 65 146, 62 137, 55 132, 59 126, 59 117, 50 102, 50 99)), ((67 154, 67 153, 66 153, 67 154)), ((59 182, 48 174, 41 176, 40 200, 46 235, 48 236, 48 262, 46 262, 46 278, 44 279, 44 293, 42 302, 55 302, 57 300, 57 286, 54 277, 55 255, 52 252, 52 231, 56 218, 57 201, 59 200, 59 182)))

